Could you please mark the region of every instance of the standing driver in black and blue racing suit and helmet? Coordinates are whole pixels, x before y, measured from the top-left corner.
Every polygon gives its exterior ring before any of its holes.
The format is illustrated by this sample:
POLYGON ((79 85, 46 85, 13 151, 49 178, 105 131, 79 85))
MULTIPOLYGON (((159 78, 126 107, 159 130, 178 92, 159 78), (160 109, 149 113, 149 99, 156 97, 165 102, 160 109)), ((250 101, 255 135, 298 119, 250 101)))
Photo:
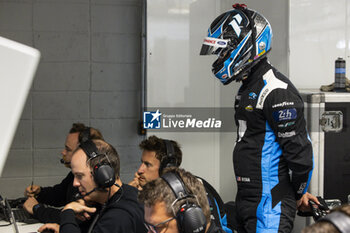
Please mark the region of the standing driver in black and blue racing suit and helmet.
POLYGON ((238 126, 233 164, 238 232, 291 232, 297 207, 318 203, 307 193, 313 169, 303 101, 266 58, 272 29, 243 4, 210 25, 201 55, 216 54, 212 71, 223 84, 242 81, 235 100, 238 126))

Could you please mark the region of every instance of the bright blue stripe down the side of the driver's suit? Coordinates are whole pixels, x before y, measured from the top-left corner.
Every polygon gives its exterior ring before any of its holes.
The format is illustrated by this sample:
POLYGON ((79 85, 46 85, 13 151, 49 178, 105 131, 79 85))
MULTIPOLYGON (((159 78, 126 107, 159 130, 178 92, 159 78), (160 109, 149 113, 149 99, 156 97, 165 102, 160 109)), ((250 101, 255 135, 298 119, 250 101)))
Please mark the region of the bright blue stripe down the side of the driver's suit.
POLYGON ((278 164, 282 149, 276 136, 266 122, 265 142, 261 154, 262 195, 256 210, 256 232, 278 232, 281 218, 281 201, 272 208, 271 190, 279 183, 278 164))

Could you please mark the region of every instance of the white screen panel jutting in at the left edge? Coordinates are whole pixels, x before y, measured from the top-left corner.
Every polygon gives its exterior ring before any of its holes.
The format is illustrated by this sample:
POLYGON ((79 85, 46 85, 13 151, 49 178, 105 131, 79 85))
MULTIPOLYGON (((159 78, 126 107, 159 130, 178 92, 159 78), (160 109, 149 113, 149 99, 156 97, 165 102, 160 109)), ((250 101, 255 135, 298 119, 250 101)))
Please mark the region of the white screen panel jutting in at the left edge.
POLYGON ((39 59, 37 49, 0 37, 0 176, 39 59))

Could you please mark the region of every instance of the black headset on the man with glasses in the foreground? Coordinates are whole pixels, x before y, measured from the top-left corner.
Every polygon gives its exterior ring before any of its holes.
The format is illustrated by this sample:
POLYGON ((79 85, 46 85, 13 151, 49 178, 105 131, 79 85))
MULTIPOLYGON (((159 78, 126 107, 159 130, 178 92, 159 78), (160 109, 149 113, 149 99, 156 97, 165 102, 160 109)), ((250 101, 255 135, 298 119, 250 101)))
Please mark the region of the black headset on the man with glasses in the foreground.
POLYGON ((186 192, 185 185, 177 173, 168 172, 161 177, 175 194, 176 200, 171 205, 171 208, 179 231, 184 233, 204 233, 207 222, 197 197, 186 192), (189 202, 188 199, 190 198, 194 198, 197 203, 189 202), (186 202, 180 206, 178 211, 175 211, 174 205, 181 200, 186 200, 186 202))

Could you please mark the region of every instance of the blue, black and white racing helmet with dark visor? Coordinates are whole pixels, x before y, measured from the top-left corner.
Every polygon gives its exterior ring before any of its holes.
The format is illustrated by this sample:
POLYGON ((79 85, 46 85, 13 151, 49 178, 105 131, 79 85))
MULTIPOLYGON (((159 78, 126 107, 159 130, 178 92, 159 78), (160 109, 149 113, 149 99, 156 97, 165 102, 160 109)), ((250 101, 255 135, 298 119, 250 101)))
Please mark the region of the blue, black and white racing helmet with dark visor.
POLYGON ((271 49, 267 19, 244 4, 218 16, 208 29, 200 55, 218 55, 212 72, 223 84, 240 81, 271 49))

